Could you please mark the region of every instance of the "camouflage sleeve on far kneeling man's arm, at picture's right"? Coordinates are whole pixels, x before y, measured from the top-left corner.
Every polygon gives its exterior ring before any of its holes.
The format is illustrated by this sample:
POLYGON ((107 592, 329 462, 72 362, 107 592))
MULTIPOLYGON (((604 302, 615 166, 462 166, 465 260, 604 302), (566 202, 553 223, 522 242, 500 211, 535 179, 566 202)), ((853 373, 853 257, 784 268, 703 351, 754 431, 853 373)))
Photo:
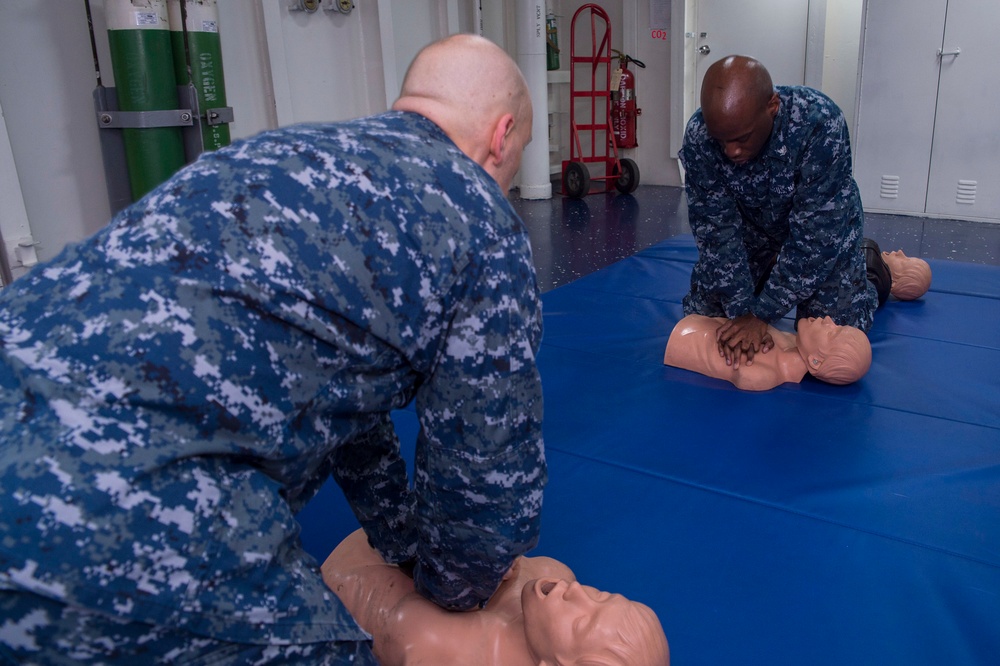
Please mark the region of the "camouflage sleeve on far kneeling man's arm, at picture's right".
POLYGON ((827 282, 845 238, 861 215, 851 174, 850 139, 843 114, 832 105, 812 110, 812 132, 802 153, 788 217, 788 240, 753 313, 774 321, 827 282))

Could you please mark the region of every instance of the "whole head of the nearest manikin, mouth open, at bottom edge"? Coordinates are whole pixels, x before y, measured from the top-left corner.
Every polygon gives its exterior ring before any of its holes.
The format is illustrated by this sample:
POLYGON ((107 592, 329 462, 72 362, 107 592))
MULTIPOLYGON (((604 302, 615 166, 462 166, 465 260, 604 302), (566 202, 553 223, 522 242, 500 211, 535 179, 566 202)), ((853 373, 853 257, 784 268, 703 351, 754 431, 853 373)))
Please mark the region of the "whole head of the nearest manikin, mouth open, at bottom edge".
POLYGON ((559 578, 521 590, 528 650, 545 666, 667 666, 670 649, 656 614, 620 594, 559 578))

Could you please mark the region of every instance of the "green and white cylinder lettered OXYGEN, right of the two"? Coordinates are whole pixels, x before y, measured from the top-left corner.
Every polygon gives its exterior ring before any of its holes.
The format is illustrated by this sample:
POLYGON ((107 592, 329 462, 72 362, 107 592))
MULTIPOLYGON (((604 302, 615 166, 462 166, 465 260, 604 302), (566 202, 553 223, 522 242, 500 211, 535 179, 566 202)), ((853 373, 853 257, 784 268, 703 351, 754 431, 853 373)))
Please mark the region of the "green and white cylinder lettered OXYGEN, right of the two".
MULTIPOLYGON (((222 42, 219 36, 217 0, 167 0, 170 10, 170 35, 174 49, 174 72, 181 85, 194 84, 198 111, 226 106, 226 84, 222 71, 222 42), (184 11, 181 11, 181 2, 184 11), (184 21, 187 17, 187 44, 184 21), (191 63, 188 76, 188 61, 191 63)), ((229 125, 209 124, 202 117, 201 138, 205 150, 229 145, 229 125)))

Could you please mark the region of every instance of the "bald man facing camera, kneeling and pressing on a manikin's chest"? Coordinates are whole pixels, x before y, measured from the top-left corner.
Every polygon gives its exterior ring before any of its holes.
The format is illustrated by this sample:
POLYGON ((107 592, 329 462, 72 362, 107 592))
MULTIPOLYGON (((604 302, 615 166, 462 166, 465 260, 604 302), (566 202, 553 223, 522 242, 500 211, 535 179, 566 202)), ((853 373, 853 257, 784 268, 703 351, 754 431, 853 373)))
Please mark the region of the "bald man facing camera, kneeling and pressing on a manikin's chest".
POLYGON ((728 318, 720 352, 737 366, 773 346, 767 325, 793 309, 867 331, 879 294, 866 260, 882 260, 862 248, 840 109, 810 88, 775 88, 742 56, 709 68, 701 103, 679 155, 698 245, 684 313, 728 318))

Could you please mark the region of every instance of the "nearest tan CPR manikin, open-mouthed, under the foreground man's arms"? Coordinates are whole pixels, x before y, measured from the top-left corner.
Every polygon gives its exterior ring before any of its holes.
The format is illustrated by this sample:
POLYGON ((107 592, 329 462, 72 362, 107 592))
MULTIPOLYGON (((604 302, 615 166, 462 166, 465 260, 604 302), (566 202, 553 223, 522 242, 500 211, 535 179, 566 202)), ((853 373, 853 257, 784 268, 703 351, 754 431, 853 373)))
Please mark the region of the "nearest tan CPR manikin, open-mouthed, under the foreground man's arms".
POLYGON ((667 666, 656 614, 619 594, 580 585, 548 557, 520 557, 482 610, 446 611, 386 564, 364 532, 323 563, 323 579, 373 637, 383 666, 612 664, 667 666))

